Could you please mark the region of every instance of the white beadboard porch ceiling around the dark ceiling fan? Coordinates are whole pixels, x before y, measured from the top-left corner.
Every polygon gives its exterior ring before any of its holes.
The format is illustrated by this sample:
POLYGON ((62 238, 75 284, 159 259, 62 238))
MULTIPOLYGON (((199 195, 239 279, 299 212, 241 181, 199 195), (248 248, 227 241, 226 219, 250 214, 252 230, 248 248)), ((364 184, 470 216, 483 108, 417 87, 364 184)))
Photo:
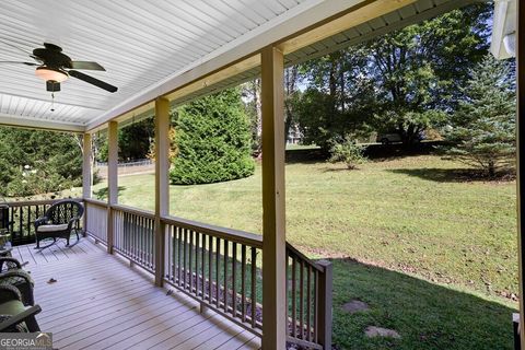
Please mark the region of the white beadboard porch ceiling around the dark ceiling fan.
POLYGON ((0 63, 0 116, 85 126, 104 112, 308 0, 2 0, 0 61, 32 61, 43 43, 106 72, 84 71, 118 86, 108 93, 70 78, 51 95, 34 67, 0 63), (14 47, 13 47, 14 46, 14 47), (18 49, 18 48, 20 49, 18 49))

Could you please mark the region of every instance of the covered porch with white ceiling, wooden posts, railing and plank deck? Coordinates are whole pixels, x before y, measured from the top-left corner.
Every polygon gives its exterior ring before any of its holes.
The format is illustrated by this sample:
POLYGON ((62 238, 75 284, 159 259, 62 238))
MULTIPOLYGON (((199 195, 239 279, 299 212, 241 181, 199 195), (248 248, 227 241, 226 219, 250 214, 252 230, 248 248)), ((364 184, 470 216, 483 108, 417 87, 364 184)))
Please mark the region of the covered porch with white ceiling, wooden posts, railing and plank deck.
MULTIPOLYGON (((69 249, 59 244, 35 253, 21 245, 13 254, 30 262, 43 307, 37 319, 54 332, 56 347, 283 349, 289 341, 331 349, 331 266, 308 259, 285 240, 283 70, 474 1, 226 2, 164 9, 137 1, 112 21, 104 13, 115 8, 103 1, 71 1, 71 11, 51 1, 0 5, 9 19, 0 26, 2 40, 25 49, 45 40, 69 45, 75 57, 98 57, 108 68, 98 77, 122 86, 104 95, 62 84, 63 98, 55 102, 25 67, 0 77, 0 124, 83 136, 78 200, 85 208, 86 237, 69 249), (57 11, 69 19, 61 26, 34 24, 33 14, 57 11), (70 36, 63 34, 68 25, 74 28, 70 36), (74 33, 88 33, 82 45, 74 33), (113 63, 119 59, 131 68, 113 63), (262 82, 262 235, 170 215, 171 108, 255 77, 262 82), (154 211, 118 202, 118 129, 147 117, 155 119, 154 211), (100 130, 108 137, 107 201, 92 198, 92 135, 100 130), (50 278, 57 282, 47 283, 50 278), (122 292, 120 285, 132 289, 122 292), (84 302, 93 307, 80 306, 84 302), (89 320, 80 323, 70 307, 89 320), (109 320, 106 307, 121 313, 122 322, 109 320)), ((3 58, 16 60, 16 50, 3 58)), ((33 240, 32 220, 51 203, 11 203, 21 243, 33 240)))

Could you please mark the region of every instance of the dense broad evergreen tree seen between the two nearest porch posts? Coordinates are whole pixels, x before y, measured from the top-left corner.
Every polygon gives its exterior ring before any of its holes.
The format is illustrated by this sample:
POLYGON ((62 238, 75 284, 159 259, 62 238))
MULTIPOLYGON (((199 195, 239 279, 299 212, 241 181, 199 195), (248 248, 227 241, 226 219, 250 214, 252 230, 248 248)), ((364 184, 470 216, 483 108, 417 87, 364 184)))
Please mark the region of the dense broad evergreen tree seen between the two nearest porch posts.
POLYGON ((177 110, 170 178, 173 184, 208 184, 254 174, 249 122, 238 89, 201 97, 177 110))

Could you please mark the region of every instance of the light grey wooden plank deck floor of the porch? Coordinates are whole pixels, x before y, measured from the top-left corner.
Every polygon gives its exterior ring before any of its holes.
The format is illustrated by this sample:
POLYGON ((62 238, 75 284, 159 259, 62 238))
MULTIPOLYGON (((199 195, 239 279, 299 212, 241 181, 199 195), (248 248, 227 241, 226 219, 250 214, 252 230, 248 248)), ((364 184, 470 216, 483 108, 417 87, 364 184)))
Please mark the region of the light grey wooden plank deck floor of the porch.
POLYGON ((56 349, 260 348, 258 337, 211 311, 200 314, 192 300, 154 287, 89 238, 71 248, 63 242, 42 253, 33 247, 14 247, 13 257, 27 262, 43 308, 37 320, 56 349))

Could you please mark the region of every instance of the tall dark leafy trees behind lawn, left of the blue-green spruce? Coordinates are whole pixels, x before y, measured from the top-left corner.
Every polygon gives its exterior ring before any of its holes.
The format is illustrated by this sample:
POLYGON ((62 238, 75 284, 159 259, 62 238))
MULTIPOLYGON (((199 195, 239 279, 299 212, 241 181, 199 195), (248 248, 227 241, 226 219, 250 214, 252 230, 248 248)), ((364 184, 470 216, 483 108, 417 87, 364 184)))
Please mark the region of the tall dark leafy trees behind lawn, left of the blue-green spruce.
POLYGON ((329 148, 341 132, 376 130, 410 144, 444 125, 463 98, 457 86, 487 51, 490 11, 472 4, 302 63, 305 139, 329 148))

